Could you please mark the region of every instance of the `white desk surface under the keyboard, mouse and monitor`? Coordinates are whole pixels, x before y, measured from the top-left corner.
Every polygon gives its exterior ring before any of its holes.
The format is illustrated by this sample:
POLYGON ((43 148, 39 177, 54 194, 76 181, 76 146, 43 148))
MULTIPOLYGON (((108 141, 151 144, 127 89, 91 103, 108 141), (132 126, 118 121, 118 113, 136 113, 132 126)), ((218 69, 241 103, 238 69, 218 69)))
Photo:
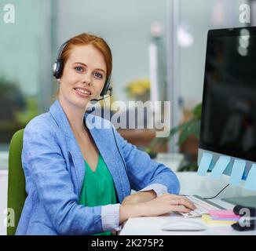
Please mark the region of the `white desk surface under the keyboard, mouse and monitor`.
MULTIPOLYGON (((229 184, 229 176, 221 176, 221 179, 213 180, 209 176, 198 176, 196 172, 177 173, 181 182, 182 195, 199 195, 202 197, 212 197, 221 191, 221 188, 229 184)), ((217 198, 210 201, 217 203, 226 209, 232 209, 233 205, 221 201, 221 198, 233 196, 250 196, 256 195, 255 191, 249 191, 243 187, 229 185, 217 198)), ((168 216, 156 217, 137 217, 130 218, 126 221, 119 235, 256 235, 256 231, 235 231, 230 226, 205 224, 206 231, 189 232, 189 231, 162 231, 161 227, 172 220, 184 219, 183 216, 176 213, 170 213, 168 216)), ((189 218, 189 220, 203 223, 201 217, 189 218)), ((203 223, 204 224, 204 223, 203 223)))

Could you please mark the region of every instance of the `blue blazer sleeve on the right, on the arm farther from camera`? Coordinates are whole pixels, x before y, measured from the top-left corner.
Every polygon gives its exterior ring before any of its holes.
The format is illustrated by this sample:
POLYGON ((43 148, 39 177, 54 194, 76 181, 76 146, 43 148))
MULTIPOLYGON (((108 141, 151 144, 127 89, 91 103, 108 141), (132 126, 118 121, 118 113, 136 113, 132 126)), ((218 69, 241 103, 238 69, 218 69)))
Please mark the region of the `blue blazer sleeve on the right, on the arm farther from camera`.
POLYGON ((144 187, 154 187, 155 184, 162 184, 167 187, 169 193, 179 193, 180 183, 170 167, 155 162, 146 152, 128 143, 127 140, 124 140, 116 131, 114 126, 113 130, 119 149, 121 149, 126 162, 126 172, 133 190, 140 191, 144 187))

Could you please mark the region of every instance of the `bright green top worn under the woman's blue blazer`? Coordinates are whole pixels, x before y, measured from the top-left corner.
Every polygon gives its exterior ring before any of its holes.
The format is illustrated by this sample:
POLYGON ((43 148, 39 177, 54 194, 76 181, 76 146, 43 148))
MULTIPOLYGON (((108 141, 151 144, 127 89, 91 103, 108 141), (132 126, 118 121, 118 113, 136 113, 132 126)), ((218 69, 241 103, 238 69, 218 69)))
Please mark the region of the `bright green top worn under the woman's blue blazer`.
MULTIPOLYGON (((99 154, 95 172, 86 164, 86 175, 82 184, 82 192, 79 204, 83 206, 104 206, 116 204, 115 187, 112 175, 106 166, 104 159, 99 154)), ((111 231, 96 235, 111 235, 111 231)))

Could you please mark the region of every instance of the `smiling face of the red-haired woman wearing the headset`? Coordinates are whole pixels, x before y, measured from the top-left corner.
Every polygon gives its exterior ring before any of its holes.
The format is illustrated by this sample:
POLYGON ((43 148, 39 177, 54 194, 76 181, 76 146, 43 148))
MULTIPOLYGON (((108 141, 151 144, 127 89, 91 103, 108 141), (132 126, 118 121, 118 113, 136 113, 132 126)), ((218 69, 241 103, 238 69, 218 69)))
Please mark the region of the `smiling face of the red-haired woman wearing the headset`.
POLYGON ((97 98, 107 78, 104 56, 93 45, 75 46, 60 78, 59 98, 65 103, 85 108, 97 98))

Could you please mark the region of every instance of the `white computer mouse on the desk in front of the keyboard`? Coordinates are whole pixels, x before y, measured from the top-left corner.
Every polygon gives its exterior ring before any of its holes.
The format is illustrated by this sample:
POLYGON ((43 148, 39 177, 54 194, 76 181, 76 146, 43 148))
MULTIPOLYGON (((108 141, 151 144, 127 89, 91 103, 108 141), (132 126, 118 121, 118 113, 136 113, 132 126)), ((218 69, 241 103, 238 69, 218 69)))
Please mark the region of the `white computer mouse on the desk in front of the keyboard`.
POLYGON ((207 228, 193 220, 176 220, 163 225, 163 231, 205 231, 207 228))

